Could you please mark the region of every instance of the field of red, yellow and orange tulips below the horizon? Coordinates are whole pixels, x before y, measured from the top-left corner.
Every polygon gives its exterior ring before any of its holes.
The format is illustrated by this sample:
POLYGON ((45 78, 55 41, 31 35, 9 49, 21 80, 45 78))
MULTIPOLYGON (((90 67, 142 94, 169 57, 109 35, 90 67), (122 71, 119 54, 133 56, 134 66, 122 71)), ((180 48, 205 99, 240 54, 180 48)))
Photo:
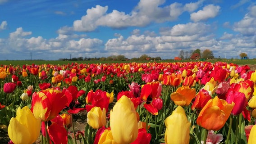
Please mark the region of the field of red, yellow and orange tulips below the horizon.
POLYGON ((0 144, 256 144, 255 89, 226 62, 1 65, 0 144))

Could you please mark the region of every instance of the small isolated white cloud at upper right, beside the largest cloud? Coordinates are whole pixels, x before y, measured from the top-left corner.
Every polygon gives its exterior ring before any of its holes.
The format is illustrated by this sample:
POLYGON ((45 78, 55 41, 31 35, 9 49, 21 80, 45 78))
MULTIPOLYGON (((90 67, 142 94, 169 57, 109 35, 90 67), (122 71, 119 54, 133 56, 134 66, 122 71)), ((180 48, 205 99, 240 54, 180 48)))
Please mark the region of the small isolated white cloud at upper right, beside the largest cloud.
POLYGON ((220 6, 213 4, 206 5, 203 10, 190 14, 190 19, 194 22, 215 18, 219 14, 220 6))

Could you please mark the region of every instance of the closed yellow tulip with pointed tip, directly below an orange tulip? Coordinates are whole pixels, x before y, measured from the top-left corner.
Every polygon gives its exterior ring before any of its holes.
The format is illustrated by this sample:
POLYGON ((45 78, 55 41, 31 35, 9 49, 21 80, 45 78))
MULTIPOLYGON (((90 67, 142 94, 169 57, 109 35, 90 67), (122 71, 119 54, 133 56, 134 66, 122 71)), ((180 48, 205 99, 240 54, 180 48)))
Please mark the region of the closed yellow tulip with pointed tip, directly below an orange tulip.
POLYGON ((184 109, 178 106, 173 113, 165 119, 165 143, 189 144, 189 130, 191 123, 187 120, 184 109))

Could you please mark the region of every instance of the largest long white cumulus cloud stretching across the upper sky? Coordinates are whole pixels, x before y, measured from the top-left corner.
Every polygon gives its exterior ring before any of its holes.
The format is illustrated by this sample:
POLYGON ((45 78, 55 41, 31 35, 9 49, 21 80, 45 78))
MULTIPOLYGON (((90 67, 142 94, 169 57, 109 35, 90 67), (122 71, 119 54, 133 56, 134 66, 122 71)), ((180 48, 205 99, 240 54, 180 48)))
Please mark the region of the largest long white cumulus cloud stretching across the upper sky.
POLYGON ((203 0, 195 3, 181 4, 173 3, 161 7, 165 0, 140 0, 137 6, 129 13, 114 9, 107 13, 108 6, 96 5, 87 9, 87 14, 81 19, 73 22, 73 27, 61 27, 58 32, 68 31, 95 31, 97 27, 111 27, 113 29, 123 29, 127 27, 144 27, 150 23, 163 23, 176 20, 183 12, 193 12, 203 0))

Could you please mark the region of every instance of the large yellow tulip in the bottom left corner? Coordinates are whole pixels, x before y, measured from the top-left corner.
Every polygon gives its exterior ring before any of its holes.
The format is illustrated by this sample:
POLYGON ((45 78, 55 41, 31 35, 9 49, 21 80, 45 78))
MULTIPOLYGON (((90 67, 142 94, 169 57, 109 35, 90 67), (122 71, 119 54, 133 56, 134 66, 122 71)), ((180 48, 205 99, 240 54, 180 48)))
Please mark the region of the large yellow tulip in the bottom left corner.
POLYGON ((31 110, 25 106, 18 108, 17 116, 12 117, 8 126, 9 138, 14 144, 32 144, 40 135, 41 120, 34 117, 31 110))

